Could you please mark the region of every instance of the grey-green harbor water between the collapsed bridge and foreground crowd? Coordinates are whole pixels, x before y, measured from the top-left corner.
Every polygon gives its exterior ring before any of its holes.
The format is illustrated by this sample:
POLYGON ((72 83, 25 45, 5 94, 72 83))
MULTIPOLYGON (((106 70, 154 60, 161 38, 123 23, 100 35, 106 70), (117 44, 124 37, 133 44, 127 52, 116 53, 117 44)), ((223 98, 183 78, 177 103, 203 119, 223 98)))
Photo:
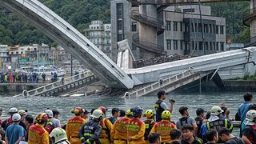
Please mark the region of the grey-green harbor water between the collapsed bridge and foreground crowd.
MULTIPOLYGON (((234 118, 238 106, 244 101, 244 92, 220 92, 220 93, 203 93, 203 94, 183 94, 183 93, 170 93, 167 98, 174 98, 174 111, 171 120, 178 121, 181 114, 178 112, 180 106, 189 107, 190 116, 195 118, 195 111, 199 107, 204 110, 210 110, 212 106, 220 106, 222 102, 226 103, 226 107, 230 109, 230 118, 234 118)), ((254 94, 254 93, 253 93, 254 94)), ((111 115, 111 108, 118 107, 122 110, 128 110, 134 106, 142 106, 144 112, 146 110, 154 110, 154 102, 157 101, 157 95, 147 95, 140 98, 121 98, 117 96, 87 96, 87 97, 6 97, 0 96, 0 107, 3 108, 2 117, 8 117, 7 112, 11 107, 16 107, 18 110, 28 110, 29 114, 35 116, 39 112, 46 110, 50 107, 51 110, 57 109, 60 112, 60 121, 65 124, 69 118, 74 115, 71 110, 76 106, 86 108, 86 110, 97 108, 98 106, 106 106, 108 108, 107 117, 111 115)), ((167 101, 167 105, 170 103, 167 101)))

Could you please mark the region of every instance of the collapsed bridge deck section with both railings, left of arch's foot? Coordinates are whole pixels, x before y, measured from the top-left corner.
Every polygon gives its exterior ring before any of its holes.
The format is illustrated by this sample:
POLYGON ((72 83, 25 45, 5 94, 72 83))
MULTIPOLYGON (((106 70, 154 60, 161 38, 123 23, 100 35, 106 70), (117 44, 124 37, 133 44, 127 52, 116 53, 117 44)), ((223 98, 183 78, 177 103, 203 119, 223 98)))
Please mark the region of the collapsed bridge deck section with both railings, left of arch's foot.
POLYGON ((38 87, 34 90, 23 90, 22 94, 15 95, 19 96, 56 96, 54 94, 67 93, 68 90, 76 89, 78 87, 84 86, 85 84, 90 84, 91 82, 97 82, 99 79, 95 75, 87 74, 86 72, 82 74, 74 75, 70 78, 62 78, 58 82, 53 82, 47 84, 46 86, 38 87))

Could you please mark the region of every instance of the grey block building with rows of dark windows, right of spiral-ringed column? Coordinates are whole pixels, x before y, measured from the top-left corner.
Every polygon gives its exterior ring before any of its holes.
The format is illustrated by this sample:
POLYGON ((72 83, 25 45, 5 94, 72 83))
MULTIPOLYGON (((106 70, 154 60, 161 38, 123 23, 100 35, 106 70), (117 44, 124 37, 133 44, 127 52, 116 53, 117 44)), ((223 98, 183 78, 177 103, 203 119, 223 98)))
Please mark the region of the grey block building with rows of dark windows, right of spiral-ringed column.
POLYGON ((199 6, 163 10, 167 54, 199 56, 226 50, 226 18, 211 16, 210 6, 201 6, 201 13, 199 6))

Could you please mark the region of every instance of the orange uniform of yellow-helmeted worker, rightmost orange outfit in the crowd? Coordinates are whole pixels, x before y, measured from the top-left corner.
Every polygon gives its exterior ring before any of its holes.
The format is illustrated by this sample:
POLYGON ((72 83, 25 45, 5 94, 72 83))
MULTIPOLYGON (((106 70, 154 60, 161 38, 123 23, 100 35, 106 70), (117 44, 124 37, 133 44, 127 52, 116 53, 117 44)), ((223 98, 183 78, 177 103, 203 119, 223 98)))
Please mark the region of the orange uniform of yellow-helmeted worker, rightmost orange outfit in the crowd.
POLYGON ((174 129, 177 129, 177 127, 173 123, 169 122, 168 120, 162 120, 161 122, 154 124, 150 133, 157 132, 161 134, 162 142, 171 143, 170 130, 174 129))

